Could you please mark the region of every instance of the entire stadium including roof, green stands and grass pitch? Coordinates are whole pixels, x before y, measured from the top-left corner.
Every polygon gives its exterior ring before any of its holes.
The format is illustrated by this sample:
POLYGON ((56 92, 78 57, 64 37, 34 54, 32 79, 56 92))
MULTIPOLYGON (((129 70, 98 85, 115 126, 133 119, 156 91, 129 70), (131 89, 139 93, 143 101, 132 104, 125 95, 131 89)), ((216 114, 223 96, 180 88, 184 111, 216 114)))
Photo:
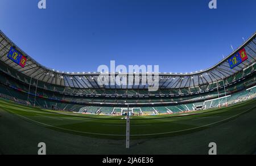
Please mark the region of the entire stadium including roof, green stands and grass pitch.
POLYGON ((0 32, 1 153, 33 154, 31 144, 43 138, 50 154, 207 154, 214 141, 229 147, 220 154, 253 154, 255 37, 207 70, 159 73, 159 90, 148 91, 141 84, 100 86, 97 72, 49 69, 0 32), (232 65, 241 54, 244 59, 232 65), (24 61, 17 63, 15 55, 24 61), (8 148, 10 142, 19 148, 8 148))

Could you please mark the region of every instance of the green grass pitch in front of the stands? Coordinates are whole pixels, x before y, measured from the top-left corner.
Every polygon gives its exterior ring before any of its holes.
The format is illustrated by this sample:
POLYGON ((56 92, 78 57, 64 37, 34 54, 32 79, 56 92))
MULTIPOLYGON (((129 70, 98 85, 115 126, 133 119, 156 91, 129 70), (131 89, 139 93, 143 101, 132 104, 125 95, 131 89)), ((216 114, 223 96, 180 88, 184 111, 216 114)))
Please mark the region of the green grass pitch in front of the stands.
MULTIPOLYGON (((134 152, 131 150, 131 153, 137 153, 135 146, 138 145, 138 142, 145 141, 150 139, 152 144, 154 142, 161 142, 159 139, 168 139, 172 140, 175 137, 180 139, 185 139, 191 137, 195 133, 201 133, 204 135, 208 130, 213 130, 217 136, 214 136, 213 139, 220 139, 223 141, 225 135, 218 135, 217 132, 223 132, 224 128, 220 127, 224 125, 225 127, 232 128, 232 121, 240 122, 240 117, 246 114, 252 114, 250 117, 255 117, 256 112, 256 100, 246 101, 236 105, 230 105, 230 107, 224 107, 221 109, 209 109, 198 112, 190 112, 183 114, 171 114, 171 115, 159 115, 159 116, 131 116, 130 124, 130 134, 131 134, 131 144, 134 144, 134 152), (254 116, 253 116, 254 115, 254 116), (213 128, 213 129, 211 129, 213 128), (220 131, 219 131, 220 130, 220 131), (219 138, 218 138, 219 137, 219 138)), ((58 112, 53 110, 45 110, 40 108, 27 107, 24 105, 18 105, 11 101, 0 100, 0 122, 3 118, 12 116, 12 118, 17 118, 22 120, 24 123, 30 124, 30 127, 43 127, 44 130, 51 130, 51 133, 64 133, 68 134, 71 139, 76 137, 83 139, 94 139, 98 141, 105 142, 110 140, 111 142, 122 142, 119 144, 121 148, 124 144, 123 140, 125 139, 126 132, 126 120, 123 120, 123 116, 97 116, 90 114, 77 114, 71 112, 58 112), (53 132, 52 132, 53 131, 53 132)), ((241 122, 242 123, 242 120, 241 122)), ((13 124, 13 123, 12 123, 13 124)), ((248 124, 251 127, 255 126, 254 124, 248 124)), ((22 124, 13 124, 17 127, 22 124)), ((235 129, 237 126, 234 126, 235 129)), ((238 128, 239 129, 239 128, 238 128)), ((32 130, 32 129, 31 129, 32 130)), ((237 130, 237 133, 242 133, 243 130, 237 130)), ((10 132, 10 131, 9 131, 10 132)), ((47 131, 48 132, 48 131, 47 131)), ((256 138, 256 131, 250 131, 252 133, 252 139, 256 138)), ((24 131, 26 133, 26 131, 24 131)), ((239 134, 238 134, 239 135, 239 134)), ((24 137, 23 135, 21 135, 24 137)), ((48 136, 48 135, 47 135, 48 136)), ((243 135, 242 135, 243 136, 243 135)), ((241 139, 244 139, 241 136, 241 139)), ((34 136, 31 136, 34 137, 34 136)), ((35 136, 36 137, 36 136, 35 136)), ((249 137, 249 136, 247 136, 249 137)), ((49 138, 48 138, 49 139, 49 138)), ((61 138, 60 138, 61 139, 61 138)), ((203 138, 189 138, 187 141, 192 141, 190 139, 202 139, 203 138)), ((239 141, 239 138, 236 138, 239 141)), ((177 139, 179 141, 179 139, 177 139)), ((195 140, 196 141, 196 140, 195 140)), ((228 140, 226 140, 228 142, 228 140)), ((172 141, 174 143, 175 141, 172 141)), ((1 142, 0 142, 1 143, 1 142)), ((161 142, 160 146, 164 146, 164 141, 161 142), (161 143, 163 143, 161 145, 161 143)), ((253 144, 248 144, 245 148, 244 153, 253 153, 255 150, 255 142, 253 144), (254 150, 253 150, 254 149, 254 150)), ((154 146, 157 146, 154 144, 154 146)), ((108 146, 107 146, 108 147, 108 146)), ((144 148, 144 151, 147 151, 148 147, 144 148)), ((133 149, 133 145, 131 146, 133 149)), ((158 149, 158 147, 156 147, 158 149)), ((0 148, 1 150, 1 148, 0 148)), ((100 150, 104 153, 104 149, 100 150)), ((117 150, 118 151, 118 150, 117 150)), ((121 150, 123 153, 126 153, 123 148, 121 150)), ((206 150, 205 150, 206 151, 206 150)), ((0 151, 1 152, 1 151, 0 151)), ((97 154, 101 152, 93 152, 92 154, 97 154)), ((149 151, 147 151, 149 152, 149 151)), ((179 150, 170 151, 171 153, 183 154, 179 150)), ((192 152, 192 151, 191 151, 192 152)), ((234 150, 234 153, 239 151, 234 150)), ((241 151, 242 152, 242 151, 241 151)), ((4 153, 4 152, 3 152, 4 153)), ((58 152, 56 151, 58 154, 58 152)), ((106 153, 114 153, 109 150, 106 153)), ((154 154, 167 154, 166 150, 154 151, 154 154)), ((188 154, 190 152, 188 151, 188 154)), ((26 154, 26 152, 25 152, 26 154)))

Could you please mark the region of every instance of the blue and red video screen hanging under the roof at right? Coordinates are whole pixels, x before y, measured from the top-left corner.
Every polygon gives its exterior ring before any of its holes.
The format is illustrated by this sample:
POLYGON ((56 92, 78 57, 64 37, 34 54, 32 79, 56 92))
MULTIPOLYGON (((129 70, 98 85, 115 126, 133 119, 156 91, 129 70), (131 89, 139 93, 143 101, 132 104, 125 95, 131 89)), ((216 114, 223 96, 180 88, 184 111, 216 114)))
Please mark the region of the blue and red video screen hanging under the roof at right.
POLYGON ((245 61, 246 59, 248 59, 247 53, 246 53, 245 48, 243 48, 239 52, 234 54, 234 56, 229 58, 228 61, 229 61, 230 69, 233 69, 234 67, 236 67, 237 65, 239 65, 240 63, 245 61))

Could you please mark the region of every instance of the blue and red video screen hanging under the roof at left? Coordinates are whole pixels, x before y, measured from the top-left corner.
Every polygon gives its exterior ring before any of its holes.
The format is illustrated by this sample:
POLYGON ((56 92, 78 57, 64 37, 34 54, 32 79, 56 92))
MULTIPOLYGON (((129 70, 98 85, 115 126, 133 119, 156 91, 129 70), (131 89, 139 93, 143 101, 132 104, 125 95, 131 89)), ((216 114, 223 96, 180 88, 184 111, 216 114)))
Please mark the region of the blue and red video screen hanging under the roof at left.
POLYGON ((21 67, 25 67, 27 58, 24 57, 22 54, 20 54, 16 49, 13 47, 10 48, 9 54, 7 54, 7 57, 17 63, 21 67))

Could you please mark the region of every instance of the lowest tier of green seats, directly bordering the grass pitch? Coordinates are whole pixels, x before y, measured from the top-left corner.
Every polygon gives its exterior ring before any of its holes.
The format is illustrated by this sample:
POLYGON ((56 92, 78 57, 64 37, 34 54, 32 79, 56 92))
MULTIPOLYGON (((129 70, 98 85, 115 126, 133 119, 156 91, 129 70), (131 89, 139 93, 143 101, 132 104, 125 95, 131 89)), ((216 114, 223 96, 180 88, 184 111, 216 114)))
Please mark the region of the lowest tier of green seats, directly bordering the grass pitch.
MULTIPOLYGON (((29 97, 30 103, 26 102, 26 95, 24 93, 19 93, 15 90, 11 90, 5 86, 0 84, 0 96, 5 99, 13 100, 22 104, 30 104, 33 103, 33 97, 29 97), (6 95, 3 92, 5 92, 6 95), (15 97, 11 97, 15 96, 15 97), (16 99, 15 99, 16 98, 16 99)), ((180 105, 166 105, 162 107, 139 107, 139 108, 131 108, 134 114, 166 114, 166 113, 179 113, 185 112, 188 110, 195 110, 196 107, 203 106, 203 109, 216 108, 220 105, 225 105, 226 102, 228 104, 238 103, 240 101, 244 101, 247 99, 251 99, 256 96, 256 87, 251 90, 245 90, 238 93, 234 93, 228 97, 222 97, 221 99, 214 99, 210 101, 204 101, 200 103, 190 103, 190 104, 180 104, 180 105)), ((56 103, 53 101, 47 101, 43 99, 36 99, 36 106, 40 106, 48 109, 56 109, 56 110, 67 110, 79 113, 92 113, 92 114, 121 114, 122 110, 127 110, 127 108, 116 108, 116 107, 95 107, 89 106, 85 107, 83 105, 77 104, 65 104, 65 103, 56 103)))

